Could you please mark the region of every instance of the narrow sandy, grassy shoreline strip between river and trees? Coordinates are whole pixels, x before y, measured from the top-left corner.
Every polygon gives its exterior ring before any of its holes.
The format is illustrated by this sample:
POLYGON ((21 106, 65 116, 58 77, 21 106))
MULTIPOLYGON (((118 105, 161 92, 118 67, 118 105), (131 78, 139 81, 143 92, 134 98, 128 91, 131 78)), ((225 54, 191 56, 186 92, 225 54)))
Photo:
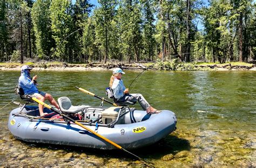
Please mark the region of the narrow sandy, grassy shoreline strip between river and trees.
MULTIPOLYGON (((147 63, 148 64, 148 63, 147 63)), ((153 63, 152 63, 153 64, 153 63)), ((66 64, 56 63, 47 64, 42 67, 39 63, 26 62, 23 65, 29 65, 36 71, 41 68, 41 71, 105 71, 112 68, 120 67, 126 70, 142 71, 145 67, 150 65, 133 65, 133 64, 66 64)), ((19 63, 2 63, 0 64, 0 71, 20 71, 22 65, 19 63)), ((177 64, 176 67, 158 66, 149 68, 153 71, 256 71, 256 65, 231 65, 231 64, 209 64, 209 65, 194 65, 194 64, 177 64)))

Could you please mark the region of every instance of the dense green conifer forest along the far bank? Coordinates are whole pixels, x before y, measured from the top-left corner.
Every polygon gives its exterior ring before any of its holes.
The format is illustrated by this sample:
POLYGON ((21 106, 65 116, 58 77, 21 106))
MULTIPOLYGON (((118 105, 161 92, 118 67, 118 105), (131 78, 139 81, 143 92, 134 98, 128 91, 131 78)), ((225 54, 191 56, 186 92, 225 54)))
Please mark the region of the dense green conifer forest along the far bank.
POLYGON ((256 60, 255 1, 99 0, 97 4, 0 0, 0 62, 256 60))

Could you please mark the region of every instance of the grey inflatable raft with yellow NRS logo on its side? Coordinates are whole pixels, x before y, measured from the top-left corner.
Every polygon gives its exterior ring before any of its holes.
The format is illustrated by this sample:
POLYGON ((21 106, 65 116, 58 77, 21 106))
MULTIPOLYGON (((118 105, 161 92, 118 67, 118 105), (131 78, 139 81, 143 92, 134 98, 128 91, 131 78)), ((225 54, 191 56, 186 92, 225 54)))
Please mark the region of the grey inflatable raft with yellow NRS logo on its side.
MULTIPOLYGON (((116 110, 113 107, 109 109, 116 110)), ((90 122, 81 121, 81 123, 125 149, 156 143, 176 129, 176 115, 169 110, 147 115, 146 111, 120 108, 116 111, 117 117, 111 119, 111 114, 103 115, 104 111, 109 109, 84 107, 82 114, 90 122)), ((44 112, 50 115, 41 119, 37 117, 39 115, 37 106, 25 106, 22 111, 21 108, 16 108, 10 113, 8 128, 15 138, 26 142, 115 149, 114 146, 79 125, 52 120, 50 117, 55 114, 46 108, 44 112)))

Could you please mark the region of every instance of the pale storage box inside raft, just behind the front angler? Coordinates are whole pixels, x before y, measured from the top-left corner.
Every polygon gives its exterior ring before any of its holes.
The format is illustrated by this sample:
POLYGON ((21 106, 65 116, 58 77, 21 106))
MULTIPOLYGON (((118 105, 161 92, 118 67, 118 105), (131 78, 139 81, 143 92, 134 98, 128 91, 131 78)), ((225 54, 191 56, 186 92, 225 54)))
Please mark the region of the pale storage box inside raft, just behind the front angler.
POLYGON ((118 112, 121 108, 119 107, 110 107, 102 112, 102 122, 103 124, 109 124, 117 120, 118 112))

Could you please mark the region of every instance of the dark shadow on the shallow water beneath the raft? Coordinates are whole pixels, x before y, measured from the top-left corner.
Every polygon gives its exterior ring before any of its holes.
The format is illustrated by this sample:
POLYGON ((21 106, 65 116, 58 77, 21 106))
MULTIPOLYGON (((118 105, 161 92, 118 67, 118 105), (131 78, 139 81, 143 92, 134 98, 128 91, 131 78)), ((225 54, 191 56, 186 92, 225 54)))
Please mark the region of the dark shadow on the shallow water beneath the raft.
MULTIPOLYGON (((20 141, 20 140, 17 140, 20 141)), ((24 142, 25 145, 28 145, 30 148, 41 148, 48 149, 52 152, 55 151, 63 151, 64 153, 68 152, 76 152, 78 154, 85 153, 86 155, 95 155, 97 157, 102 157, 105 159, 117 158, 120 160, 136 160, 136 158, 132 157, 130 154, 114 149, 114 150, 102 150, 102 149, 93 149, 93 148, 85 148, 80 146, 68 146, 68 145, 57 145, 57 144, 44 144, 44 143, 31 143, 24 142)), ((178 138, 174 135, 168 135, 165 138, 161 139, 159 142, 144 146, 143 148, 128 150, 133 154, 145 158, 145 159, 161 159, 165 155, 175 155, 180 151, 190 151, 191 146, 188 140, 183 138, 178 138), (150 151, 150 152, 149 152, 150 151)))

